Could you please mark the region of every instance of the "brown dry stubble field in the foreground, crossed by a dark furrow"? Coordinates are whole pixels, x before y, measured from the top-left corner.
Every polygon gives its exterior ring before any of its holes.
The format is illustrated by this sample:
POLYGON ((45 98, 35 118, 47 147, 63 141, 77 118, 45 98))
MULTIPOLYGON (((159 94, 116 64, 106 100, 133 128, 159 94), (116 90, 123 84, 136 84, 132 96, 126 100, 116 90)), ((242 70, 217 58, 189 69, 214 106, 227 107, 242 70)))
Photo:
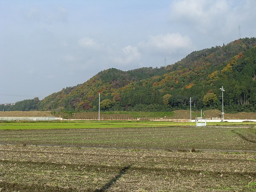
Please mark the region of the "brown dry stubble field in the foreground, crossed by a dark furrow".
POLYGON ((0 191, 253 191, 255 154, 0 146, 0 191))

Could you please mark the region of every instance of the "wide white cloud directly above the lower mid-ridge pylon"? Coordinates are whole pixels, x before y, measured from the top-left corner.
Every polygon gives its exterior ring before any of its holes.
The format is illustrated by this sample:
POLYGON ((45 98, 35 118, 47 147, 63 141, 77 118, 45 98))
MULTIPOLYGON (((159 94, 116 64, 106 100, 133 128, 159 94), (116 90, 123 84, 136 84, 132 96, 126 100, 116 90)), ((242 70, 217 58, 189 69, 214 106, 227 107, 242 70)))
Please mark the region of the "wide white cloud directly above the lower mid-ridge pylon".
POLYGON ((139 46, 145 52, 155 54, 174 54, 180 49, 191 49, 192 43, 189 37, 183 36, 180 33, 161 34, 149 36, 148 41, 141 42, 139 46))

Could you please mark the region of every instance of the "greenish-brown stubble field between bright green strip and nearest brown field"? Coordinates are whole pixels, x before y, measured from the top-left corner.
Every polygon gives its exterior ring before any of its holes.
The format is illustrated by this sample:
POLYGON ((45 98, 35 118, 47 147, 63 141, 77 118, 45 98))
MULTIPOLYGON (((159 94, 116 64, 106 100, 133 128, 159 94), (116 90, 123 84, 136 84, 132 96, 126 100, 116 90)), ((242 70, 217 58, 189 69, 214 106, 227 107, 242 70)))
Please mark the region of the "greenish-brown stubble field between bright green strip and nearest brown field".
POLYGON ((256 150, 256 134, 237 127, 2 130, 0 143, 190 150, 256 150))

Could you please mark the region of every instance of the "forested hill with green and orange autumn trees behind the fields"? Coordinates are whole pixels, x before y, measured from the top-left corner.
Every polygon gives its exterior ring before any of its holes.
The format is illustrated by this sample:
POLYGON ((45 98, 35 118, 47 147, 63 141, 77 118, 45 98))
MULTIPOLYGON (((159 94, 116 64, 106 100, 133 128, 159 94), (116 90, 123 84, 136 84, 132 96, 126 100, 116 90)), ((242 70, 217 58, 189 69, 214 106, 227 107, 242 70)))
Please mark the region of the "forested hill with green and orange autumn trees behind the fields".
POLYGON ((171 111, 221 109, 223 86, 226 111, 256 110, 256 38, 195 51, 167 67, 122 71, 108 69, 75 87, 53 93, 38 110, 171 111))

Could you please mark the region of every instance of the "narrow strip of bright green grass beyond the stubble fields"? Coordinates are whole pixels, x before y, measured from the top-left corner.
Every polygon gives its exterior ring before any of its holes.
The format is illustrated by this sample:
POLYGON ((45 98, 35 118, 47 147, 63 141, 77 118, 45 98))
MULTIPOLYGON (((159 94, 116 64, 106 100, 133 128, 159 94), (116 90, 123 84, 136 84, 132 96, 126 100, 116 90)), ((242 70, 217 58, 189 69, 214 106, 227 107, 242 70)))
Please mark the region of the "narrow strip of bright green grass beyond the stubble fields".
MULTIPOLYGON (((256 122, 218 122, 208 123, 212 126, 253 126, 256 122)), ((0 130, 17 129, 87 129, 87 128, 143 128, 143 127, 184 127, 195 126, 195 122, 169 121, 61 121, 61 122, 1 122, 0 130)))

